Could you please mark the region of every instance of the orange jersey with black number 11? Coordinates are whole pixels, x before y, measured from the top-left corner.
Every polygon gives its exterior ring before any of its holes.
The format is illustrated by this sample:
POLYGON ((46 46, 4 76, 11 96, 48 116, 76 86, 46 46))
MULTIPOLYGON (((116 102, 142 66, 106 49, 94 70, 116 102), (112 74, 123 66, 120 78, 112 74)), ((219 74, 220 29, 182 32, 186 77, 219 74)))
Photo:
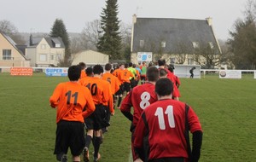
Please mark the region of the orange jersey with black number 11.
POLYGON ((58 84, 49 98, 49 103, 51 107, 57 107, 56 123, 60 120, 84 123, 84 118, 95 110, 90 91, 75 82, 58 84), (84 107, 87 108, 83 112, 84 107))

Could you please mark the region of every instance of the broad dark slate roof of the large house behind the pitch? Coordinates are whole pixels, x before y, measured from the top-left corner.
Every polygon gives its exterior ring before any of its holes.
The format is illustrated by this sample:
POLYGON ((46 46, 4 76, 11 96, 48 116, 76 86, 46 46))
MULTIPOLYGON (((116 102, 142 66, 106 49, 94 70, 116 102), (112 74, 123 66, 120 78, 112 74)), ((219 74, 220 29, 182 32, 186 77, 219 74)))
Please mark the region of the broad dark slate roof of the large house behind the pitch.
POLYGON ((140 40, 144 40, 145 49, 159 47, 161 42, 166 42, 166 47, 163 48, 165 53, 178 53, 177 44, 181 43, 188 49, 194 49, 192 42, 198 42, 200 46, 203 45, 201 43, 212 42, 218 49, 212 26, 208 25, 207 20, 137 18, 133 33, 132 52, 143 50, 140 48, 140 40))

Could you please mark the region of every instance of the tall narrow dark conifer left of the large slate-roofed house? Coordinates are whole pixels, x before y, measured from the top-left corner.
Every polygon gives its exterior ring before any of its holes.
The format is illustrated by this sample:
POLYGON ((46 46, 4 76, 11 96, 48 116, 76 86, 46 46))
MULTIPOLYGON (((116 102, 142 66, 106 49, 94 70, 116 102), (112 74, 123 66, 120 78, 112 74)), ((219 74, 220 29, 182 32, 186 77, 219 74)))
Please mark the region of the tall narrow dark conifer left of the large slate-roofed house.
POLYGON ((119 33, 119 20, 117 0, 107 0, 106 9, 102 10, 101 26, 102 36, 97 43, 98 51, 110 56, 111 60, 121 59, 121 37, 119 33))

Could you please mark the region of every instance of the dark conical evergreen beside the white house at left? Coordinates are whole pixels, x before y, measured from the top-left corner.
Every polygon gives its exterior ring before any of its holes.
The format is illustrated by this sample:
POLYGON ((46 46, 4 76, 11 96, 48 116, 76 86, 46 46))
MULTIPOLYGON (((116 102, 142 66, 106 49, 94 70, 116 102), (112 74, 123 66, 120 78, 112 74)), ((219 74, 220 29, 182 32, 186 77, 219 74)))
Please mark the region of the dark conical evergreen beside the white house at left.
POLYGON ((62 38, 62 41, 65 45, 65 55, 63 60, 59 62, 60 67, 70 67, 72 64, 71 58, 71 50, 70 50, 70 40, 67 33, 66 26, 63 23, 63 20, 56 19, 54 25, 51 28, 51 32, 49 34, 52 38, 62 38))

